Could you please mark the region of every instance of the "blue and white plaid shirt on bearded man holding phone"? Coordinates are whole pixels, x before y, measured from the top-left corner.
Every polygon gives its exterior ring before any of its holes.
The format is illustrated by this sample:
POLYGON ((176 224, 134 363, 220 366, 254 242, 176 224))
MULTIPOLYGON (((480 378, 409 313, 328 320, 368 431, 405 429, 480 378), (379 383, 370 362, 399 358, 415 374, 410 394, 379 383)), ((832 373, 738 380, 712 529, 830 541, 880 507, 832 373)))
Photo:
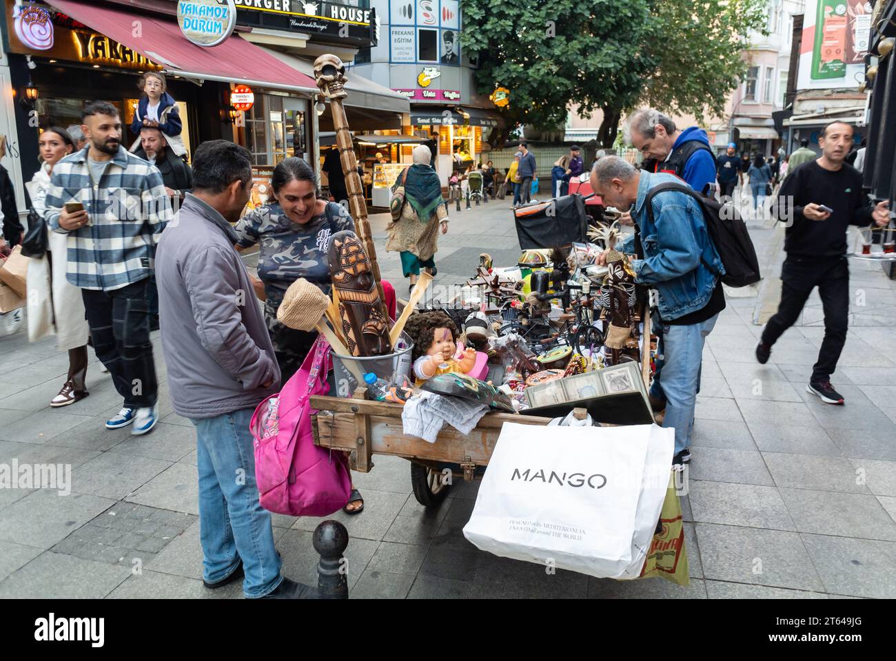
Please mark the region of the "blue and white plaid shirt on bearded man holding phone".
POLYGON ((82 289, 120 289, 151 275, 171 202, 158 168, 122 146, 94 183, 89 149, 56 163, 44 218, 51 230, 68 235, 69 282, 82 289), (81 202, 90 223, 72 231, 59 227, 65 202, 81 202))

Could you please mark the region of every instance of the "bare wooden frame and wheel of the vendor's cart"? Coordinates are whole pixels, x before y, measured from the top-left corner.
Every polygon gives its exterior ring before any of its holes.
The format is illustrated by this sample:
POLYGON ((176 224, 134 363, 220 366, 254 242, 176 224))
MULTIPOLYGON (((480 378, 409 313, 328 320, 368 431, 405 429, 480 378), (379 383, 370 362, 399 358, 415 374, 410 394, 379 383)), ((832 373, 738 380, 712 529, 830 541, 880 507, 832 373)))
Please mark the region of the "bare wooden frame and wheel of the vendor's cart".
MULTIPOLYGON (((642 319, 647 319, 646 305, 642 319)), ((642 377, 650 385, 650 334, 642 334, 642 377)), ((505 422, 547 425, 548 417, 513 413, 487 413, 470 434, 445 425, 435 443, 404 434, 403 405, 366 399, 366 388, 358 388, 350 399, 311 398, 317 410, 312 417, 314 443, 334 451, 351 453, 352 470, 368 473, 375 454, 390 454, 410 461, 410 481, 417 501, 431 507, 444 500, 454 478, 470 482, 488 465, 495 442, 505 422)))

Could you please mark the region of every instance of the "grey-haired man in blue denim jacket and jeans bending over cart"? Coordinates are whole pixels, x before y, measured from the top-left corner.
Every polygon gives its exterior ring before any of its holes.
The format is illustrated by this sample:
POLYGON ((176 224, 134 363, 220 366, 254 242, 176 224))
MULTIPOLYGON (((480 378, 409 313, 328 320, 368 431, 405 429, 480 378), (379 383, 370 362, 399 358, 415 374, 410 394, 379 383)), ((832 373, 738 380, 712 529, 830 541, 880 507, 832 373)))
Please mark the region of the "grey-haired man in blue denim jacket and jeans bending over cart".
MULTIPOLYGON (((658 193, 648 209, 650 189, 670 181, 679 180, 637 170, 616 156, 600 159, 591 170, 591 188, 605 204, 616 209, 634 205, 632 218, 641 230, 643 259, 633 260, 632 268, 635 282, 655 288, 659 295, 665 359, 661 389, 667 400, 663 426, 675 428, 673 465, 681 468, 691 459, 703 343, 725 309, 720 281, 725 269, 700 204, 691 195, 658 193)), ((606 253, 599 262, 606 262, 606 253)))

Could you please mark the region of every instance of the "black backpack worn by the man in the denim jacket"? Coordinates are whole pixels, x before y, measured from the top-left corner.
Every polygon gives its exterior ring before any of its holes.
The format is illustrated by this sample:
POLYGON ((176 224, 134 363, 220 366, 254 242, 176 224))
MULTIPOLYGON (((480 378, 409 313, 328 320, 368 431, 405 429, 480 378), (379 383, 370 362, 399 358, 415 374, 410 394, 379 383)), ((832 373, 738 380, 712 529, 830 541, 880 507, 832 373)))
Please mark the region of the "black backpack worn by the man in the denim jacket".
POLYGON ((759 260, 756 258, 753 240, 734 204, 730 202, 722 204, 715 198, 703 197, 701 194, 695 193, 690 186, 667 182, 651 188, 647 193, 647 199, 644 200, 651 221, 653 221, 653 206, 650 202, 654 195, 663 191, 687 193, 694 200, 700 202, 712 245, 715 246, 722 265, 725 267, 725 275, 722 276, 723 283, 728 287, 746 287, 754 282, 759 282, 762 276, 759 274, 759 260))

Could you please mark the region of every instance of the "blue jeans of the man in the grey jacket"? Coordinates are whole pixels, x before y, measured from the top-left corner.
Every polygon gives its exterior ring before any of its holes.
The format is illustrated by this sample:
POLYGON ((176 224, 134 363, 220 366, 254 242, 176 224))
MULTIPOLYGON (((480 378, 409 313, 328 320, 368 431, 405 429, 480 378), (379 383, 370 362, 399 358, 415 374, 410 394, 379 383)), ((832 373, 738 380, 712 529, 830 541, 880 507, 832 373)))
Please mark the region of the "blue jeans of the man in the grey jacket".
POLYGON ((243 594, 264 597, 280 585, 271 512, 258 502, 249 423, 254 409, 191 420, 199 467, 199 535, 202 578, 226 579, 243 561, 243 594))

